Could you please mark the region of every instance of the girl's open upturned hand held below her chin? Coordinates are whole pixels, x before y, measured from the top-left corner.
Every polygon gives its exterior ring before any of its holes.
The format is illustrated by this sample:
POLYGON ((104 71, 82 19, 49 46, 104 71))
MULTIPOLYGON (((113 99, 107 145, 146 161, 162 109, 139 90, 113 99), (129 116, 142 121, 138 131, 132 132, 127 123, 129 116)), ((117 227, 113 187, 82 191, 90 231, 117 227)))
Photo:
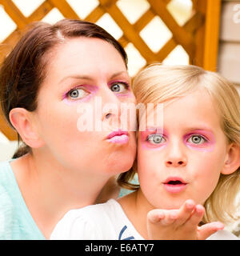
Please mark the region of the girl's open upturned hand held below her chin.
POLYGON ((224 228, 222 222, 210 222, 199 227, 204 213, 204 207, 196 205, 193 200, 186 200, 178 210, 150 210, 147 214, 148 239, 205 240, 224 228))

